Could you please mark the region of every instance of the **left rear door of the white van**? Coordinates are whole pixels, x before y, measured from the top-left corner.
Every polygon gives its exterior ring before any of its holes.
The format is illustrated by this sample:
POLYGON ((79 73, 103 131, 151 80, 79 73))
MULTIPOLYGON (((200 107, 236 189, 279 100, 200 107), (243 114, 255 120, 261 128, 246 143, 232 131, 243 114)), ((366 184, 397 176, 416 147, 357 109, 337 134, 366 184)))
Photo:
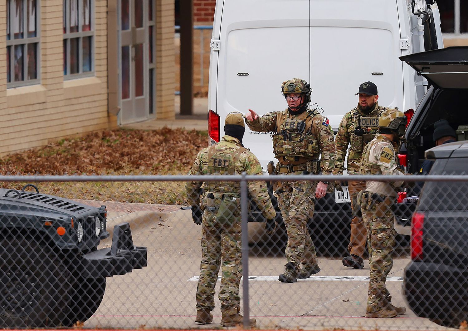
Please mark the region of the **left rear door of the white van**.
MULTIPOLYGON (((281 83, 310 77, 308 31, 306 0, 224 0, 216 87, 221 122, 231 111, 262 116, 287 108, 281 83)), ((244 145, 266 171, 274 160, 270 134, 246 127, 244 145)))

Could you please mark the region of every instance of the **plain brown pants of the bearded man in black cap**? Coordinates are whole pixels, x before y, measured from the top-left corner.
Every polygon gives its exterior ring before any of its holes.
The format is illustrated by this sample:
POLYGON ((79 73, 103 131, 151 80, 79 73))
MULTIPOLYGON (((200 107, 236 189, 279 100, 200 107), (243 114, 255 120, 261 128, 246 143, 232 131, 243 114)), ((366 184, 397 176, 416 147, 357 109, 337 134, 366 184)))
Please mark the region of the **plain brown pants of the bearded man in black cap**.
MULTIPOLYGON (((348 190, 350 192, 351 197, 351 208, 354 210, 354 206, 357 204, 358 193, 361 190, 366 189, 366 182, 356 182, 356 181, 349 181, 348 182, 348 190)), ((362 217, 358 217, 354 215, 351 219, 351 238, 350 244, 348 245, 348 250, 350 254, 357 255, 358 257, 362 257, 364 254, 364 249, 366 247, 366 239, 367 239, 367 229, 362 217)))

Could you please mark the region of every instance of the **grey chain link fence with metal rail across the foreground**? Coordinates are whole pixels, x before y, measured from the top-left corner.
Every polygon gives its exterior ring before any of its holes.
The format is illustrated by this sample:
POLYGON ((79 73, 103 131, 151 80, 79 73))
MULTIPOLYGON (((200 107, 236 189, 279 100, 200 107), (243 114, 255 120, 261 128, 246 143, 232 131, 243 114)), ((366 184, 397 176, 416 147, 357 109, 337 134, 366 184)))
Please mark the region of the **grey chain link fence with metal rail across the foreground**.
MULTIPOLYGON (((2 328, 213 329, 238 307, 244 328, 252 318, 260 329, 467 327, 468 176, 0 176, 0 182, 2 328), (240 193, 210 198, 200 190, 203 224, 194 224, 190 206, 180 202, 187 201, 185 183, 221 178, 240 193), (318 181, 337 178, 403 178, 405 189, 391 199, 361 194, 356 205, 363 207, 353 210, 346 189, 314 198, 318 181), (274 230, 248 190, 252 181, 269 189, 274 230), (81 190, 98 185, 102 199, 44 194, 51 182, 81 190), (283 217, 277 201, 287 183, 308 185, 299 204, 307 215, 297 217, 296 210, 283 217), (160 193, 146 191, 148 184, 160 193), (151 192, 159 204, 113 201, 124 190, 151 192), (364 217, 371 232, 364 235, 364 267, 357 269, 342 261, 353 217, 364 217), (287 233, 298 241, 288 245, 287 233), (380 277, 372 288, 369 242, 373 275, 380 277), (294 254, 300 267, 314 267, 310 276, 278 281, 294 254), (376 304, 373 311, 399 307, 399 315, 365 317, 369 304, 376 304), (196 323, 197 309, 211 311, 212 322, 205 316, 207 324, 196 323)), ((292 185, 290 201, 299 187, 292 185)))

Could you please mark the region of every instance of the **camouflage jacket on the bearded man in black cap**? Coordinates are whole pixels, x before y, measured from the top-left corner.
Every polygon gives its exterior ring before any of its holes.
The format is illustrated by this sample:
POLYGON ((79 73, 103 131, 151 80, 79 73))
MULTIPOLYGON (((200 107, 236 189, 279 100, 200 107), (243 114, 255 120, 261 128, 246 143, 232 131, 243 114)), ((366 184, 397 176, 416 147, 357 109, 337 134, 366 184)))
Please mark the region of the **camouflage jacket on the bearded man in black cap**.
POLYGON ((386 109, 387 107, 381 107, 376 102, 374 110, 369 114, 363 113, 358 105, 358 107, 344 115, 335 138, 336 154, 335 170, 333 171, 335 175, 343 174, 344 158, 350 143, 351 147, 347 164, 348 174, 357 174, 359 172, 363 147, 373 140, 379 126, 379 116, 386 109), (354 134, 358 126, 364 131, 364 134, 361 136, 354 134))

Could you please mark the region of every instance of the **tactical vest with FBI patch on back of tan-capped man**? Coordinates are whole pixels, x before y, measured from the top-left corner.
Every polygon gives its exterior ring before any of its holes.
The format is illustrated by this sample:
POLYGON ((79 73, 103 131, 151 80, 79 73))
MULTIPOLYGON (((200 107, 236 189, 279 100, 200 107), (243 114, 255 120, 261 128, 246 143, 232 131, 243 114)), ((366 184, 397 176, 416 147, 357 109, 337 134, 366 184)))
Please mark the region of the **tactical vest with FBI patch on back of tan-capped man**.
MULTIPOLYGON (((216 145, 213 145, 208 150, 208 172, 207 175, 235 175, 236 168, 235 164, 239 160, 241 153, 247 149, 244 147, 237 148, 236 151, 231 152, 228 150, 216 149, 216 145)), ((212 193, 224 193, 224 194, 239 194, 240 183, 239 182, 213 182, 206 181, 204 184, 205 191, 212 193)))

